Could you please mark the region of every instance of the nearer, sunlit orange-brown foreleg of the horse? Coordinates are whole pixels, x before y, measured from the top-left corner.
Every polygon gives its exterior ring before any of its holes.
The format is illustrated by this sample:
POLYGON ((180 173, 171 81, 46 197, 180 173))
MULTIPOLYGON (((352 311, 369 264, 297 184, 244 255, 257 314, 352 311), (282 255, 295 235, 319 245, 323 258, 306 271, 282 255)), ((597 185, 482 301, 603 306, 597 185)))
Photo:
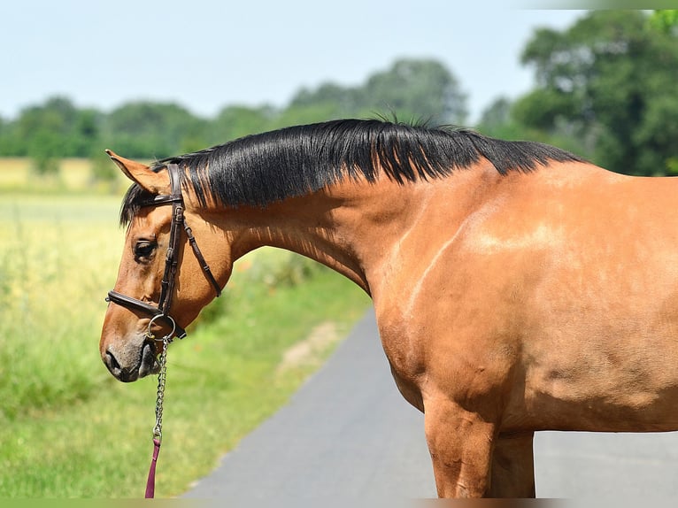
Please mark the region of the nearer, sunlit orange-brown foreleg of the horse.
POLYGON ((449 399, 441 397, 424 405, 438 496, 486 496, 495 426, 449 399))

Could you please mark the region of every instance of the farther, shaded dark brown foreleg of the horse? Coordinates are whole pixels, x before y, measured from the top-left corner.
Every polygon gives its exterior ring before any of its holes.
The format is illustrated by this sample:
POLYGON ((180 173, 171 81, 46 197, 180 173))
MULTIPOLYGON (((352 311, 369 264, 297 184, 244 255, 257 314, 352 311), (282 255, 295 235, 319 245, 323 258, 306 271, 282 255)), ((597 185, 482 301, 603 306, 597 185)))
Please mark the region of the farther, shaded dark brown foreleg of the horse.
POLYGON ((489 496, 535 497, 534 436, 534 432, 497 436, 489 496))

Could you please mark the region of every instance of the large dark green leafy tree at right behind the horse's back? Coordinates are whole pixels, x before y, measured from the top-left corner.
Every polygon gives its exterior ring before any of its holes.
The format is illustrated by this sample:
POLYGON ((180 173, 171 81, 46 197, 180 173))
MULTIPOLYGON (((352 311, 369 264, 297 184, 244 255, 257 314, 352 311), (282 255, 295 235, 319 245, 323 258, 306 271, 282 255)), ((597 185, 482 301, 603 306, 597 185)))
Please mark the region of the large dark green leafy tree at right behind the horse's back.
POLYGON ((567 131, 611 169, 666 173, 678 154, 678 38, 637 11, 598 11, 563 32, 538 30, 522 54, 536 88, 520 122, 567 131))

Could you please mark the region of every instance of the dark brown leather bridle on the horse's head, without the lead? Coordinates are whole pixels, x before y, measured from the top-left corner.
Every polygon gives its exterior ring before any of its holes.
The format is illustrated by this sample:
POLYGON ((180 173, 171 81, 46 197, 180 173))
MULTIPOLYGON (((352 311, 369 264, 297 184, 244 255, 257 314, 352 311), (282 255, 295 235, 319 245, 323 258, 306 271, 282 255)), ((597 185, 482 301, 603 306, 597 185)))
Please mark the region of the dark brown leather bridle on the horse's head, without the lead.
POLYGON ((219 282, 217 282, 217 280, 214 278, 214 275, 212 275, 210 266, 208 266, 207 262, 204 260, 202 252, 200 252, 200 249, 198 249, 196 238, 193 236, 193 232, 184 220, 184 204, 183 196, 181 195, 181 177, 179 174, 179 166, 176 164, 168 164, 166 167, 167 173, 169 173, 170 176, 171 194, 153 196, 152 199, 144 201, 141 204, 141 206, 160 206, 163 204, 172 204, 170 238, 165 258, 165 273, 163 273, 163 280, 161 282, 158 306, 156 307, 155 305, 143 302, 142 300, 133 298, 132 296, 122 295, 117 291, 112 290, 108 292, 106 301, 112 302, 113 304, 118 304, 131 311, 143 312, 150 315, 149 334, 150 326, 156 320, 165 319, 173 327, 173 332, 169 334, 169 337, 171 337, 175 332, 176 336, 182 339, 186 336, 186 330, 178 326, 176 321, 169 314, 170 307, 172 305, 177 266, 179 265, 179 241, 181 238, 181 227, 183 227, 184 231, 186 231, 186 235, 189 239, 190 246, 193 249, 193 253, 195 254, 200 266, 203 267, 205 277, 207 277, 207 280, 210 281, 216 290, 217 296, 221 296, 221 288, 219 282))

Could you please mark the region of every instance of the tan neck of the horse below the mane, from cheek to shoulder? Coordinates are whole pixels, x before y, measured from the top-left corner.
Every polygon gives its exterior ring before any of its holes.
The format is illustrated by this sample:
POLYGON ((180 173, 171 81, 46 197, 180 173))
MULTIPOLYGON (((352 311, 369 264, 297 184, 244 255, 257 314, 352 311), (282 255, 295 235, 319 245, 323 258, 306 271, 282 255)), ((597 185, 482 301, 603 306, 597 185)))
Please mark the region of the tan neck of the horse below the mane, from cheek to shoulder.
POLYGON ((225 229, 235 232, 234 260, 265 245, 293 250, 376 297, 404 290, 399 273, 427 266, 424 258, 444 249, 479 200, 497 193, 502 178, 485 164, 403 185, 383 177, 374 183, 349 180, 263 209, 222 215, 225 229))

